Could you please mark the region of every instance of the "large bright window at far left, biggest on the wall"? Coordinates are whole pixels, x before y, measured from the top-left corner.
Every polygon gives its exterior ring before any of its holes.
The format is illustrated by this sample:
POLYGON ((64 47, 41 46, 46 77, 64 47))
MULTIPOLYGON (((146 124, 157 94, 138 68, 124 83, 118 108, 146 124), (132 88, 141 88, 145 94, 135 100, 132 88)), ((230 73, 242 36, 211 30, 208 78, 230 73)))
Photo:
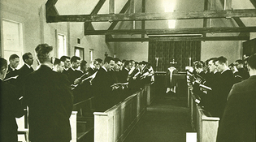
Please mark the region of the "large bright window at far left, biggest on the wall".
POLYGON ((11 54, 17 54, 20 57, 20 65, 18 66, 20 68, 23 64, 22 54, 24 52, 22 24, 8 19, 2 19, 2 38, 2 57, 9 60, 11 54))

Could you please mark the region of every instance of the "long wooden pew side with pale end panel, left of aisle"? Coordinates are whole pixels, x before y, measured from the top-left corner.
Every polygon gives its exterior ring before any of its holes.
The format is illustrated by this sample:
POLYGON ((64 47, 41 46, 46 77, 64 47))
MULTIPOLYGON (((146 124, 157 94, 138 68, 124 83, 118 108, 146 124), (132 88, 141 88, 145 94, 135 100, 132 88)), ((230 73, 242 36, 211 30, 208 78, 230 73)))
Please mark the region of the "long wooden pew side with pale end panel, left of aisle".
POLYGON ((105 112, 94 112, 94 141, 124 141, 146 111, 149 85, 105 112))

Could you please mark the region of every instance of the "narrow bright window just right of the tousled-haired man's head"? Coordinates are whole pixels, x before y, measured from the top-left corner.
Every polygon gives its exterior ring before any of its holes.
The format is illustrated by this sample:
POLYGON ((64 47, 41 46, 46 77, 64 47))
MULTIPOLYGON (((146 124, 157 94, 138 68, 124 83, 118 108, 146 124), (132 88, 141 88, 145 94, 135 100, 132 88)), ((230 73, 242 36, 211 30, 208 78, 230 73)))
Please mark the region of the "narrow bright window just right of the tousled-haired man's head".
POLYGON ((65 35, 58 34, 58 58, 67 55, 67 42, 65 35))

